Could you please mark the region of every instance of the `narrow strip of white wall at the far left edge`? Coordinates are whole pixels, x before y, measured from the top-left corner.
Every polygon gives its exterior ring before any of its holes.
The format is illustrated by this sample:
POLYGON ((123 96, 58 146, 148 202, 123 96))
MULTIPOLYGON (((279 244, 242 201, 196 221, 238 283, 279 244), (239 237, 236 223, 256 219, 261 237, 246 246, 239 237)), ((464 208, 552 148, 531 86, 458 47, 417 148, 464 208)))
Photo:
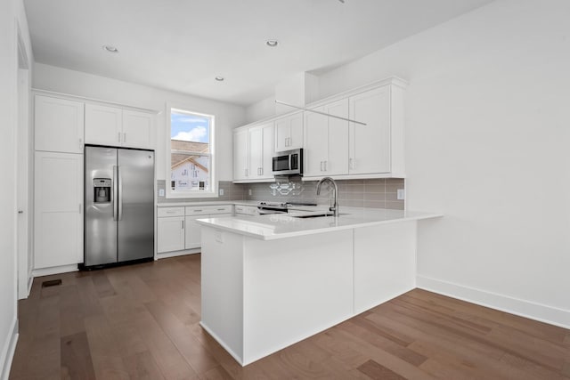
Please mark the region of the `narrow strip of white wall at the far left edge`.
POLYGON ((18 125, 18 28, 28 57, 28 23, 21 0, 0 2, 0 378, 7 378, 17 336, 16 128, 18 125))

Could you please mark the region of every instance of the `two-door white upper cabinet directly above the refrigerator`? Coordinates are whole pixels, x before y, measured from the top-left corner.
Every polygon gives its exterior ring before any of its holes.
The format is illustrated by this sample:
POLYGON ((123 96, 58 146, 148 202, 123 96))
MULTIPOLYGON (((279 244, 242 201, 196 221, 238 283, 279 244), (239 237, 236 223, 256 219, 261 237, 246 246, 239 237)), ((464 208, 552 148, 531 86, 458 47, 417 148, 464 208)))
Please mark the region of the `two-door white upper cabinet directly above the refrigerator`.
POLYGON ((117 107, 85 104, 85 142, 154 149, 154 116, 117 107))

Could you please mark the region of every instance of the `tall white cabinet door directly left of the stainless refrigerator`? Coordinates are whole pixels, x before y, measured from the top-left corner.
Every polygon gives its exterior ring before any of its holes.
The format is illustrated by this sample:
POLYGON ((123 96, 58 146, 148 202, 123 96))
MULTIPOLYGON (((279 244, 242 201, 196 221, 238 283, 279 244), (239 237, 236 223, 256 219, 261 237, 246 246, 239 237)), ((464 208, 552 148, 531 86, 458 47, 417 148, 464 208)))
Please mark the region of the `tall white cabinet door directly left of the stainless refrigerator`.
POLYGON ((83 155, 36 152, 34 268, 83 262, 83 155))

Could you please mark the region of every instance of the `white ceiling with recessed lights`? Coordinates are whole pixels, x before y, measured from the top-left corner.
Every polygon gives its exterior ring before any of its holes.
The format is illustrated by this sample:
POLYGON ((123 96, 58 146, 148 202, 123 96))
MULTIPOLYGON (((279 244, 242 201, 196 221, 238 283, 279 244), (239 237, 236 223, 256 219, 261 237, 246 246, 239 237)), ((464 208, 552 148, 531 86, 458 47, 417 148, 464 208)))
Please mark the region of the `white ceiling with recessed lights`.
POLYGON ((37 62, 248 105, 290 75, 324 72, 491 1, 24 3, 37 62), (268 39, 279 45, 268 47, 268 39), (104 51, 105 44, 118 53, 104 51))

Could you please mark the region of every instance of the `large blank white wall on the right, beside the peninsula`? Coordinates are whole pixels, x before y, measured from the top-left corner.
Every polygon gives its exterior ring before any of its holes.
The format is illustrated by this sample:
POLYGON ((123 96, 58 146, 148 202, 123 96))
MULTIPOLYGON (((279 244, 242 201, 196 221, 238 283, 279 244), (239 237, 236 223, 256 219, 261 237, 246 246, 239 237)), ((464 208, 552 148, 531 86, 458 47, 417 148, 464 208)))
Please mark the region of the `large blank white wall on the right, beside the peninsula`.
POLYGON ((570 2, 497 1, 320 77, 397 75, 419 286, 570 327, 570 2))

